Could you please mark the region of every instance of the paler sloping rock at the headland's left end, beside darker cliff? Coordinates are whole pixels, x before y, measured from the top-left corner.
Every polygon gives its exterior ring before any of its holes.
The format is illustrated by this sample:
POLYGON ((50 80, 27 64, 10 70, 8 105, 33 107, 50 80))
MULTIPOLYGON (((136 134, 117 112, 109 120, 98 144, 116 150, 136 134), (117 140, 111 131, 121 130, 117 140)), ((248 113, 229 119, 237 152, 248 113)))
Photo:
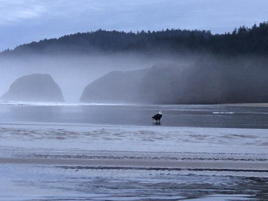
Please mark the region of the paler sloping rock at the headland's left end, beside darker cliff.
POLYGON ((141 83, 150 69, 112 71, 88 84, 80 97, 84 103, 138 103, 141 83))

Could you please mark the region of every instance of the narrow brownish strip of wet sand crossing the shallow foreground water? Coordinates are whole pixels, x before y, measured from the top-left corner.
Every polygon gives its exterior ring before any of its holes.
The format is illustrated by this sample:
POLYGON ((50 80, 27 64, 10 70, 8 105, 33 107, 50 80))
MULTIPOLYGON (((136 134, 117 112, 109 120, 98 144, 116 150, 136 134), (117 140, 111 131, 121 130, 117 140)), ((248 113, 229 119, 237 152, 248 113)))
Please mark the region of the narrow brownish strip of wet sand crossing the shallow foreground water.
POLYGON ((128 159, 39 159, 0 158, 0 164, 42 164, 81 166, 92 169, 151 169, 151 170, 196 170, 196 171, 244 171, 267 172, 268 162, 236 161, 177 161, 177 160, 128 160, 128 159))

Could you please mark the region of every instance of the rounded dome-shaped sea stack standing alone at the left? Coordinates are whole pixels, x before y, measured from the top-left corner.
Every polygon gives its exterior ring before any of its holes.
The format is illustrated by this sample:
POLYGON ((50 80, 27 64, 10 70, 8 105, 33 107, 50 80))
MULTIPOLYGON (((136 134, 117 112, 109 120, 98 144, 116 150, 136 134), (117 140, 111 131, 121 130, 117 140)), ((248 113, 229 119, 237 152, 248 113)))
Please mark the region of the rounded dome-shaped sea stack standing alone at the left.
POLYGON ((48 74, 31 74, 16 79, 2 100, 64 102, 58 84, 48 74))

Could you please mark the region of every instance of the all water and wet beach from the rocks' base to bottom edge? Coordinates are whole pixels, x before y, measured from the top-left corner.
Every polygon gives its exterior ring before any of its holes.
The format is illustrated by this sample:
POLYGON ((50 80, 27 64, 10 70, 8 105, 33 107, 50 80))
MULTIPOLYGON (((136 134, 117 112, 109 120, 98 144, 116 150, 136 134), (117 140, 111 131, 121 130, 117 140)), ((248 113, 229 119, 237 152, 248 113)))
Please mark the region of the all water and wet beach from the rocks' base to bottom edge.
POLYGON ((0 103, 0 200, 268 200, 267 128, 259 106, 0 103))

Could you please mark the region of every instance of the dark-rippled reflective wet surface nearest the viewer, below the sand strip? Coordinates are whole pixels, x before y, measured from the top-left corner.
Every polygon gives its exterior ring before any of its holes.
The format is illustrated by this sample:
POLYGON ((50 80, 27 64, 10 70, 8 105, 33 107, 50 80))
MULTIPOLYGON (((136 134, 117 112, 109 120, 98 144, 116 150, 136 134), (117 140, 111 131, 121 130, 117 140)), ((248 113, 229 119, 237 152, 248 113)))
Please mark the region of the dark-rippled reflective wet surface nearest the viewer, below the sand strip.
POLYGON ((267 178, 233 176, 228 172, 218 175, 44 165, 2 165, 2 172, 2 200, 268 199, 267 178))

